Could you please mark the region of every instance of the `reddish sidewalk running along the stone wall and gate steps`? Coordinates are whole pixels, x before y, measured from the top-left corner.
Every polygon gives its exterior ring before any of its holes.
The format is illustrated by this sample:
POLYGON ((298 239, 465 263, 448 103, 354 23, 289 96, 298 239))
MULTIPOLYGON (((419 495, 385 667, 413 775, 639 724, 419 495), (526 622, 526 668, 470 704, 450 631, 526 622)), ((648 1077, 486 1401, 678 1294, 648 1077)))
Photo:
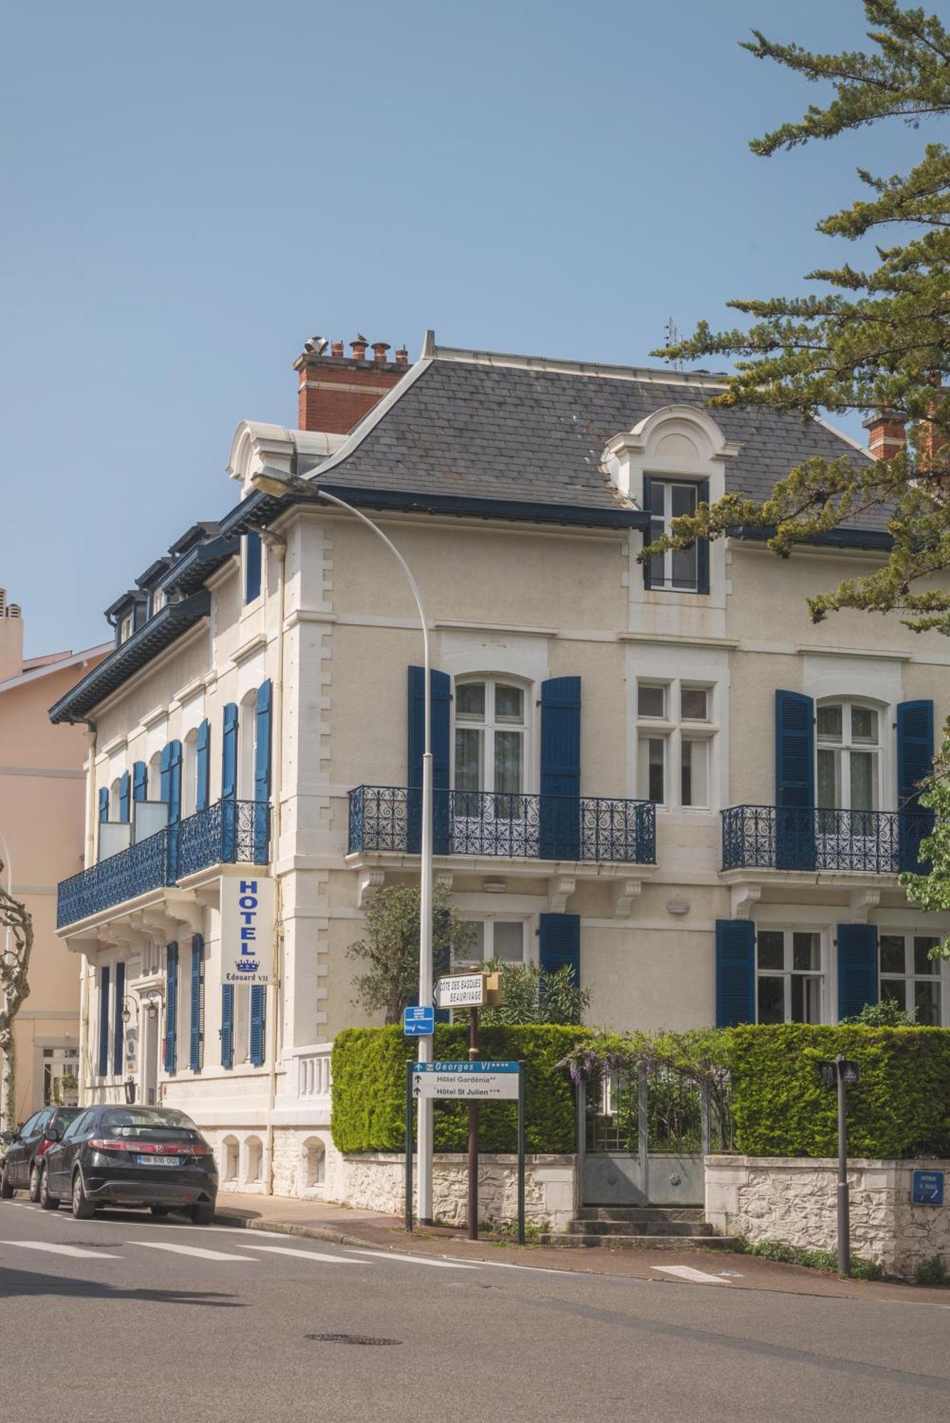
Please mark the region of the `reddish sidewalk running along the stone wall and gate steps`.
POLYGON ((336 1202, 299 1201, 279 1195, 239 1195, 232 1191, 218 1197, 215 1220, 219 1225, 303 1235, 336 1245, 485 1261, 491 1265, 522 1265, 566 1274, 614 1275, 626 1279, 649 1279, 653 1284, 697 1284, 688 1276, 666 1272, 670 1266, 687 1266, 703 1275, 715 1276, 717 1282, 721 1281, 731 1288, 869 1301, 893 1299, 902 1303, 939 1305, 950 1311, 950 1289, 839 1281, 816 1269, 778 1265, 755 1255, 737 1255, 728 1251, 519 1247, 491 1235, 469 1241, 462 1229, 442 1225, 417 1227, 410 1235, 402 1220, 395 1215, 351 1210, 336 1202))

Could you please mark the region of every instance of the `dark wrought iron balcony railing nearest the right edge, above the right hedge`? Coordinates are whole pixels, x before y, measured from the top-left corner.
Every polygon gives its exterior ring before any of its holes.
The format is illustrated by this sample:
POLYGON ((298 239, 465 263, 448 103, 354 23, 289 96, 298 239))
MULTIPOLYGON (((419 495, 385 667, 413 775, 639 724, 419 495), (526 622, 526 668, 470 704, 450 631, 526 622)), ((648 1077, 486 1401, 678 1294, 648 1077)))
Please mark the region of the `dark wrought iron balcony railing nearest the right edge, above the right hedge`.
POLYGON ((722 869, 843 869, 896 875, 920 868, 927 811, 731 805, 722 811, 722 869))

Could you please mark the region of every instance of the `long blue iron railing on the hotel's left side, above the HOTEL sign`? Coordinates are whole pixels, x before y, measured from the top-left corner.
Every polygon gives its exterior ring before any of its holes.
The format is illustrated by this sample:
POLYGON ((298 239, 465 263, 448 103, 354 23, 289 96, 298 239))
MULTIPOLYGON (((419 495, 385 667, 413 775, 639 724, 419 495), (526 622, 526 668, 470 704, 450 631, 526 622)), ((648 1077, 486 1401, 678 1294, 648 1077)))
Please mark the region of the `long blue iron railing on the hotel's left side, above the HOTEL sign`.
POLYGON ((166 825, 118 855, 100 859, 58 888, 57 928, 178 884, 218 864, 266 865, 270 807, 265 801, 218 801, 188 820, 166 825))

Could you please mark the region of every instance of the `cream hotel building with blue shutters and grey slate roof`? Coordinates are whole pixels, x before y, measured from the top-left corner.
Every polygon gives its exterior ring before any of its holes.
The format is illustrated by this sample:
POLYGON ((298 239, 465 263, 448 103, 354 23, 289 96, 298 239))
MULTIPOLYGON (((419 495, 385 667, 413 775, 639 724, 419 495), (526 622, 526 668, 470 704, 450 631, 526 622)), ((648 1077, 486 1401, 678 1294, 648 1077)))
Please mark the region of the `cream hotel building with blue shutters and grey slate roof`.
POLYGON ((209 1131, 226 1185, 319 1192, 329 1044, 360 1022, 346 949, 367 896, 418 874, 408 585, 371 529, 262 470, 370 512, 424 592, 437 875, 486 958, 573 963, 616 1027, 835 1022, 879 995, 950 1023, 926 956, 950 921, 897 884, 946 643, 805 608, 875 566, 883 522, 786 562, 742 529, 637 562, 700 499, 868 453, 711 411, 701 371, 326 344, 296 363, 300 428, 238 427, 235 507, 112 605, 115 650, 51 712, 94 727, 100 859, 60 887, 84 1100, 131 1077, 209 1131), (272 879, 276 983, 233 982, 222 914, 272 879))

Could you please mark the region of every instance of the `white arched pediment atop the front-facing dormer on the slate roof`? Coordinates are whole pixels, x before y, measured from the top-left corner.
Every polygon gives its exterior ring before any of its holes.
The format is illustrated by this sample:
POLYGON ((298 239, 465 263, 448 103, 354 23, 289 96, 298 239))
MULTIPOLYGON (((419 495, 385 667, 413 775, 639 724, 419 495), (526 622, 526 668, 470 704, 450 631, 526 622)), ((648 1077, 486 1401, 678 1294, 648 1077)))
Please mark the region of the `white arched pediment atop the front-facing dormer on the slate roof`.
MULTIPOLYGON (((640 502, 644 472, 711 478, 724 492, 724 461, 740 453, 698 406, 661 406, 607 441, 603 462, 621 494, 640 502)), ((717 492, 714 497, 720 497, 717 492)))

